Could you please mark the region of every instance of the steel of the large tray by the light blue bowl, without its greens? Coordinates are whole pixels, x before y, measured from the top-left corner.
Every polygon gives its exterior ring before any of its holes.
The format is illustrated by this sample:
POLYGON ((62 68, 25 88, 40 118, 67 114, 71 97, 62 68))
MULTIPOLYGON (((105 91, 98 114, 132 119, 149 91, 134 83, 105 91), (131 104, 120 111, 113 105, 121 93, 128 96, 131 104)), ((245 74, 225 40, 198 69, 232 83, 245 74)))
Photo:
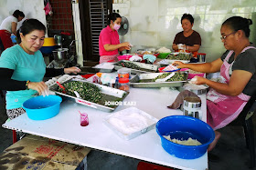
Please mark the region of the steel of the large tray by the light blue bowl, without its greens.
MULTIPOLYGON (((86 82, 86 83, 89 83, 89 84, 93 84, 89 81, 76 79, 76 78, 70 79, 69 81, 79 81, 79 82, 86 82)), ((67 82, 69 82, 69 81, 67 81, 67 82)), ((67 82, 64 82, 64 83, 67 83, 67 82)), ((93 85, 96 85, 101 89, 101 94, 103 95, 103 97, 101 99, 101 103, 103 103, 104 100, 114 101, 116 99, 118 99, 118 102, 122 102, 123 99, 129 94, 129 92, 125 92, 123 90, 115 89, 115 88, 112 88, 110 86, 99 85, 99 84, 93 84, 93 85)), ((83 99, 80 99, 80 98, 72 96, 72 95, 65 95, 65 94, 57 92, 56 91, 57 88, 58 88, 58 85, 55 84, 55 85, 51 85, 49 87, 49 90, 55 92, 56 95, 60 95, 63 99, 68 99, 68 100, 74 101, 74 102, 76 102, 78 104, 81 104, 81 105, 87 105, 87 106, 90 106, 90 107, 95 108, 97 110, 101 110, 101 111, 104 111, 104 112, 112 112, 118 106, 118 105, 111 105, 110 106, 110 105, 96 104, 96 103, 93 103, 93 102, 90 102, 90 101, 87 101, 87 100, 83 100, 83 99)))

